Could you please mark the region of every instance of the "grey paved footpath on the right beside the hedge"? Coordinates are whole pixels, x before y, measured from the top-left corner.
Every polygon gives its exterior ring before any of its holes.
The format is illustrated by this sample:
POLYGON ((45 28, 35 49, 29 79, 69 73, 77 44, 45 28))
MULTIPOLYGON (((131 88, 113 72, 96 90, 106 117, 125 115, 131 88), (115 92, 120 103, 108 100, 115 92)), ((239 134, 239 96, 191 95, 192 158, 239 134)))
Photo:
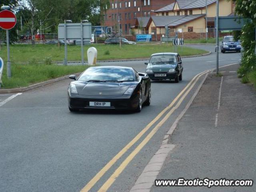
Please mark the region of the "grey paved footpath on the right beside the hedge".
POLYGON ((170 137, 175 147, 157 179, 252 179, 254 186, 152 186, 151 192, 256 191, 256 90, 240 82, 238 67, 221 68, 223 77, 208 76, 170 137))

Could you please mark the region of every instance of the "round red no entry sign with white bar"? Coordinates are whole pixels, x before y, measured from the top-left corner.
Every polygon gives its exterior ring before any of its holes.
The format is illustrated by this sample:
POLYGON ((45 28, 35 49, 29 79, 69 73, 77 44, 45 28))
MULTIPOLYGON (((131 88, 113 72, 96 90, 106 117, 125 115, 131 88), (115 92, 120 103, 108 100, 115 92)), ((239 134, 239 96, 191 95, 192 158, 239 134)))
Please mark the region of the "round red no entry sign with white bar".
POLYGON ((16 16, 9 10, 0 12, 0 27, 6 30, 13 28, 16 25, 16 16))

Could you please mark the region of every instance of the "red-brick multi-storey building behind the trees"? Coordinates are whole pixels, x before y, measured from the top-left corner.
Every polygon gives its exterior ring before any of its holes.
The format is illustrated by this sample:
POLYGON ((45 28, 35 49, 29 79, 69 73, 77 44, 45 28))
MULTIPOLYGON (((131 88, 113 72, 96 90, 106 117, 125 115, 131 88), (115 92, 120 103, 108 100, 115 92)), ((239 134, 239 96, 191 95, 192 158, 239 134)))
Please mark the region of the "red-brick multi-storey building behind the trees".
POLYGON ((175 2, 175 0, 110 0, 110 7, 104 14, 102 25, 118 30, 118 16, 122 34, 129 34, 136 18, 156 15, 154 11, 175 2))

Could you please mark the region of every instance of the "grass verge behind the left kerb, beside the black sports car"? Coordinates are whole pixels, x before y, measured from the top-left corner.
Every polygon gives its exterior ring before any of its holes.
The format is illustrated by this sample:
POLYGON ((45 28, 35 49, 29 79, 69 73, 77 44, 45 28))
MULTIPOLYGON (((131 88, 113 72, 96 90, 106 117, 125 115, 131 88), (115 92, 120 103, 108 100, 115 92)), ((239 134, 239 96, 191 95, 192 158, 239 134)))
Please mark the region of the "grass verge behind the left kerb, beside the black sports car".
POLYGON ((6 76, 6 65, 2 74, 1 89, 26 87, 31 84, 82 72, 87 66, 58 66, 46 64, 12 63, 12 78, 6 76))

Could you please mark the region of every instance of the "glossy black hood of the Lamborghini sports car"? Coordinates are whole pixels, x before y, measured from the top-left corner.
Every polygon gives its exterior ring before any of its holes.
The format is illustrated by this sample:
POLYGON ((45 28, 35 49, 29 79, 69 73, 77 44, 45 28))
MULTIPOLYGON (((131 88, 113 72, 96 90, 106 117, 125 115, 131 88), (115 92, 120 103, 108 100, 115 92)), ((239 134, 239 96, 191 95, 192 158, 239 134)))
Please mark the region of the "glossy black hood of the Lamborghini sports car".
MULTIPOLYGON (((74 82, 72 82, 74 83, 74 82)), ((122 96, 126 90, 133 85, 132 82, 110 83, 110 82, 75 82, 79 95, 91 96, 122 96)))

